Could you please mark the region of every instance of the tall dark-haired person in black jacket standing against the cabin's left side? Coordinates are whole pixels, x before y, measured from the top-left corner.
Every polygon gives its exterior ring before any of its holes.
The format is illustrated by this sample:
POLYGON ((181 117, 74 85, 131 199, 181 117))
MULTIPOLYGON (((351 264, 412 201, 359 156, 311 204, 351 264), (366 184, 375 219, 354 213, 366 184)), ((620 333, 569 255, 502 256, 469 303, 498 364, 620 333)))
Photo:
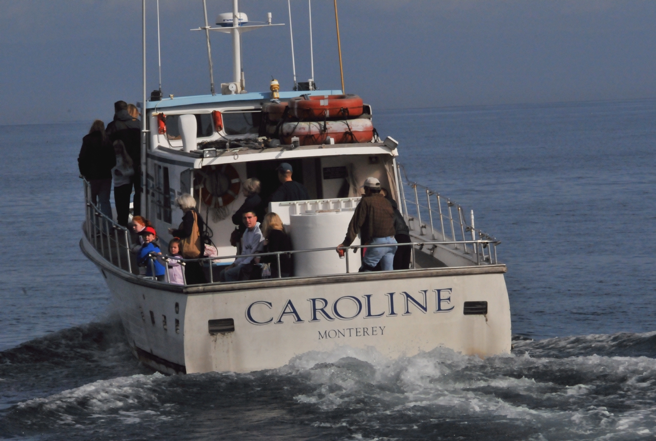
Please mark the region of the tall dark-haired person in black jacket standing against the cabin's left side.
POLYGON ((134 215, 141 214, 141 121, 128 113, 127 103, 114 103, 114 119, 107 125, 110 141, 123 141, 125 151, 134 164, 132 185, 134 186, 134 215))

